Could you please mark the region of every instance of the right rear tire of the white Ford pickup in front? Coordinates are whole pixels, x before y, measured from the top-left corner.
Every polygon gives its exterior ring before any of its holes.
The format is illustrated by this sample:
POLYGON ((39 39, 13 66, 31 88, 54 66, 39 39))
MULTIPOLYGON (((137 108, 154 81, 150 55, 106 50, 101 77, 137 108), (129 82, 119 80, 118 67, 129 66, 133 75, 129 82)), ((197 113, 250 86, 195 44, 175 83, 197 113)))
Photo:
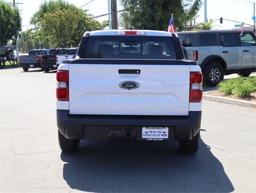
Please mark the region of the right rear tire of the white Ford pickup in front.
POLYGON ((194 154, 199 147, 200 131, 191 140, 179 141, 180 152, 194 154))

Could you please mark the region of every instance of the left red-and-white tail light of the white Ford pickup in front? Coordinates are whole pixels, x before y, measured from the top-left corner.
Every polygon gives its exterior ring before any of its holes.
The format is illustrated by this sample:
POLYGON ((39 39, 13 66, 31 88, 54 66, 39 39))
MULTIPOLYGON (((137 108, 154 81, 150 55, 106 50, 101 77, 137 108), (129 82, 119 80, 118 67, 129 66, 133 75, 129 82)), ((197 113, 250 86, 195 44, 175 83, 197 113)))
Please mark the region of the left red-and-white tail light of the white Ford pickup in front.
POLYGON ((59 70, 56 73, 57 89, 56 98, 57 100, 68 101, 68 71, 59 70))

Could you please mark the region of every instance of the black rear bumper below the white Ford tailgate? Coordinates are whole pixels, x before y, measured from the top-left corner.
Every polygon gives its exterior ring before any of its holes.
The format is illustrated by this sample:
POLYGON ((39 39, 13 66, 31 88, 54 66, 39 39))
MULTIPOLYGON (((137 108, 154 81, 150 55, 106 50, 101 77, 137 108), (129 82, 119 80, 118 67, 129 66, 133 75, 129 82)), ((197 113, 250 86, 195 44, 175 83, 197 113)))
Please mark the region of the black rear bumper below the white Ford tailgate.
POLYGON ((168 140, 189 140, 200 129, 201 115, 202 111, 190 111, 188 116, 70 115, 69 110, 57 109, 57 126, 68 139, 123 138, 130 130, 134 139, 142 140, 142 126, 168 126, 168 140))

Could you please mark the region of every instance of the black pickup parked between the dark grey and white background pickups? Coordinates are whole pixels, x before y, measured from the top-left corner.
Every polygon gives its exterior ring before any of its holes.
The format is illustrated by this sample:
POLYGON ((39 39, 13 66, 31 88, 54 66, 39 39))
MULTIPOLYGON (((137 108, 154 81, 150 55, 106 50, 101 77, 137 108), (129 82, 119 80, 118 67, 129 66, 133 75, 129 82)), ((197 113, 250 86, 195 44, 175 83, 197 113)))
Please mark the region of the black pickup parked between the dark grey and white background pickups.
POLYGON ((67 54, 67 48, 51 49, 49 55, 42 55, 41 67, 45 72, 49 72, 50 69, 56 69, 56 55, 67 54))

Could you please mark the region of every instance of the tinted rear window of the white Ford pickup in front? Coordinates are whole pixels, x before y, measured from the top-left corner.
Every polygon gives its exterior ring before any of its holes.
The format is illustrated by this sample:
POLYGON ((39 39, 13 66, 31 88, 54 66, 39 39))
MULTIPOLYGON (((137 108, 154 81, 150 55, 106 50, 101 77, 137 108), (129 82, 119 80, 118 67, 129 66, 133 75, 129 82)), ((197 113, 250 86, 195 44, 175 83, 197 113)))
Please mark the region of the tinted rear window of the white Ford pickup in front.
POLYGON ((114 35, 89 36, 85 58, 176 59, 172 37, 114 35))

